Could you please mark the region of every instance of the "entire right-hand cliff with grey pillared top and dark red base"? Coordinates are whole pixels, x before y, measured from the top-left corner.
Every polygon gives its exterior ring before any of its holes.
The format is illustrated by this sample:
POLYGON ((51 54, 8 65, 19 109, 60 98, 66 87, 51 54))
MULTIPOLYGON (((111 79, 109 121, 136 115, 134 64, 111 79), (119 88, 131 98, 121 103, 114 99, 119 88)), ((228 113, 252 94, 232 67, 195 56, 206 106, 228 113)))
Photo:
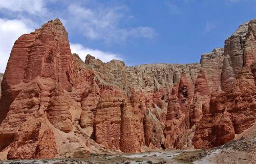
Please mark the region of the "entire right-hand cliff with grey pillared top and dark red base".
POLYGON ((255 122, 255 31, 256 19, 241 25, 225 41, 222 90, 212 93, 209 111, 196 127, 195 148, 222 145, 255 122))

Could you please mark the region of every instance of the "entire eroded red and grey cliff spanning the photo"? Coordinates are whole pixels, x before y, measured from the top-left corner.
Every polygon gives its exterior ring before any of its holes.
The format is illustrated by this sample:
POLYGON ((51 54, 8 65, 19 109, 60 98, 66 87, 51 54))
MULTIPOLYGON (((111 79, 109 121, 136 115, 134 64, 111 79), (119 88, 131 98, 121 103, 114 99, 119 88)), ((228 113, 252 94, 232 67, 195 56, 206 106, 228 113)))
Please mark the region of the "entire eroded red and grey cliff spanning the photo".
POLYGON ((256 20, 200 64, 128 67, 71 54, 59 19, 16 40, 2 81, 0 154, 209 148, 255 122, 256 20))

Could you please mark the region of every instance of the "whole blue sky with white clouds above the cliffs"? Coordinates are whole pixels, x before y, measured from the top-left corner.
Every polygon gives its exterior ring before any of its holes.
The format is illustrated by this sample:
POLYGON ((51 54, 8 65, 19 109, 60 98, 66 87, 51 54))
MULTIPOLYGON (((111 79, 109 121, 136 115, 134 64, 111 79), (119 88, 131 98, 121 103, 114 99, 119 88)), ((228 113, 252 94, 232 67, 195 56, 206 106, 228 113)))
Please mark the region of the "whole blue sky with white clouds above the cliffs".
POLYGON ((82 60, 139 65, 199 62, 255 15, 255 0, 1 0, 0 72, 20 35, 56 17, 82 60))

